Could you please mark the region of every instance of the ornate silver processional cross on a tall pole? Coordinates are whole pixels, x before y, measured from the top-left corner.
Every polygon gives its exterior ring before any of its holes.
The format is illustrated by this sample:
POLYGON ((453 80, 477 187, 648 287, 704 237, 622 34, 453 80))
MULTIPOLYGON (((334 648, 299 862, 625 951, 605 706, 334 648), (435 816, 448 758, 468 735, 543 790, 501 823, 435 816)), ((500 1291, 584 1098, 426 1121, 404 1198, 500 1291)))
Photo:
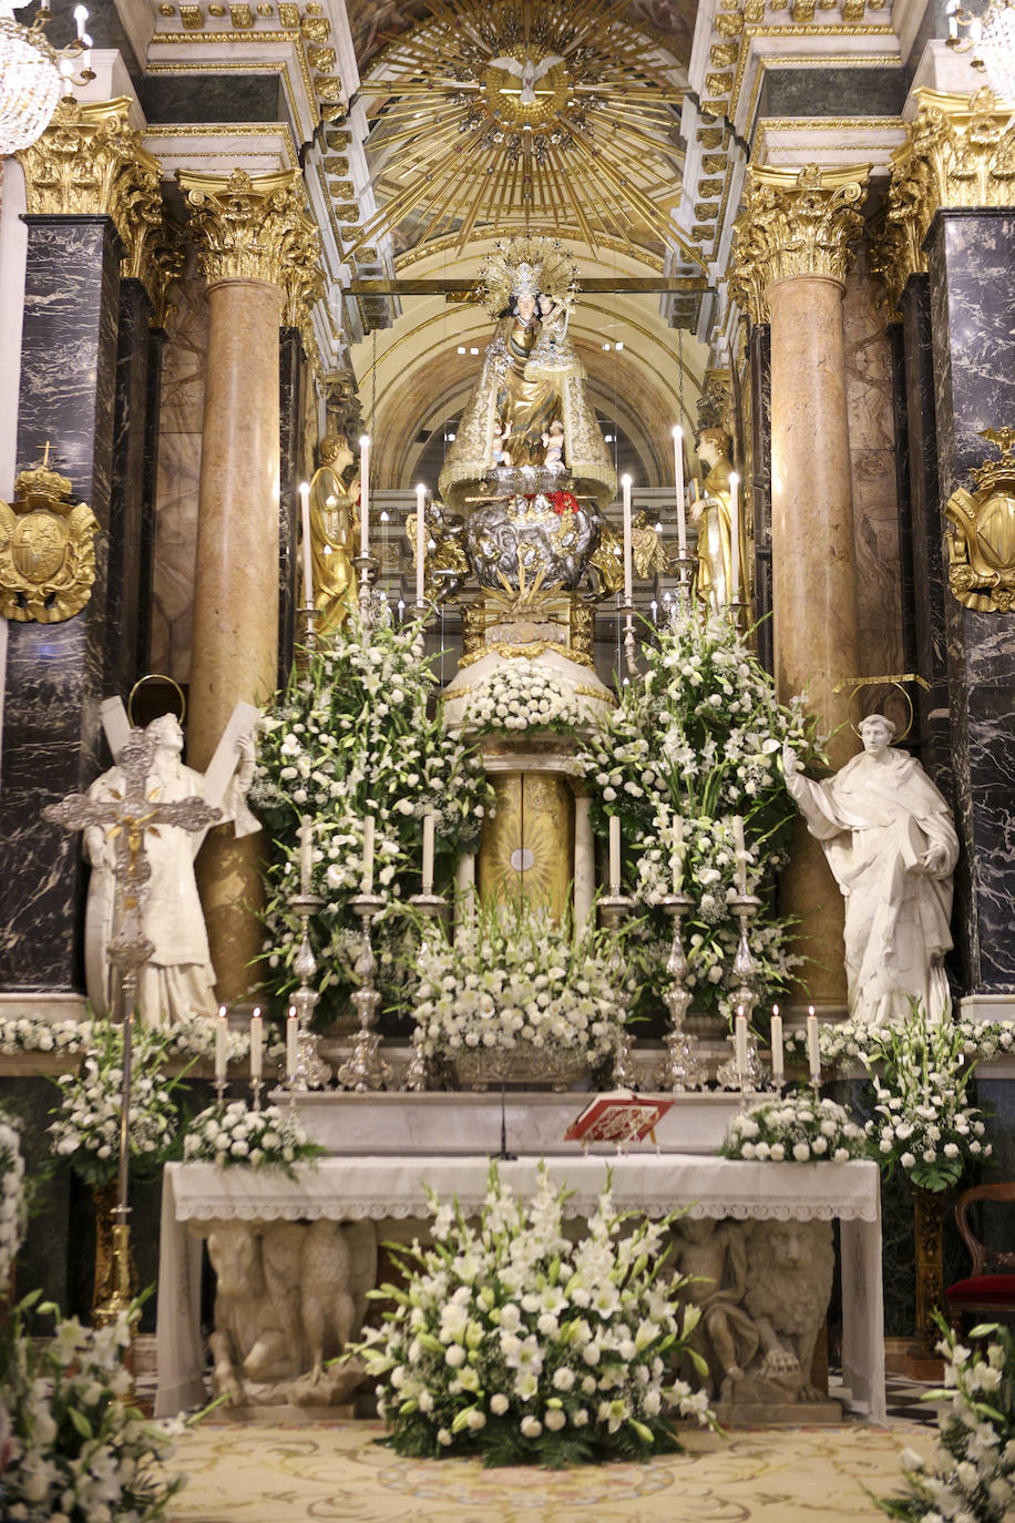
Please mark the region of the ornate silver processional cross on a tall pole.
POLYGON ((158 803, 146 797, 145 784, 152 769, 155 740, 143 730, 131 730, 119 754, 123 790, 110 800, 91 800, 87 793, 68 793, 43 813, 67 830, 102 825, 116 842, 114 935, 110 963, 114 969, 113 1019, 123 1027, 123 1090, 120 1097, 120 1174, 117 1188, 117 1224, 113 1229, 114 1288, 100 1308, 105 1320, 125 1311, 131 1302, 129 1228, 126 1203, 131 1115, 131 1037, 140 972, 152 955, 152 943, 145 935, 143 912, 148 899, 151 867, 145 851, 145 832, 152 825, 175 825, 180 830, 204 832, 221 816, 221 810, 202 798, 158 803))

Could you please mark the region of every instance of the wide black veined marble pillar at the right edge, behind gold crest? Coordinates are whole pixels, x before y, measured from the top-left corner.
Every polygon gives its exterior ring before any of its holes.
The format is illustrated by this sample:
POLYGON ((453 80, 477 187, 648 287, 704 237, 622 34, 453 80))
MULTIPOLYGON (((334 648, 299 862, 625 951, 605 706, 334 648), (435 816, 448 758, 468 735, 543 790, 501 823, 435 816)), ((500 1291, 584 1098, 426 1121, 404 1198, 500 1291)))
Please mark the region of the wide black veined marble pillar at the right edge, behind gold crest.
MULTIPOLYGON (((1015 419, 1015 212, 939 212, 927 236, 939 500, 995 451, 980 429, 1015 419)), ((1015 993, 1015 620, 945 592, 966 993, 1015 993)))

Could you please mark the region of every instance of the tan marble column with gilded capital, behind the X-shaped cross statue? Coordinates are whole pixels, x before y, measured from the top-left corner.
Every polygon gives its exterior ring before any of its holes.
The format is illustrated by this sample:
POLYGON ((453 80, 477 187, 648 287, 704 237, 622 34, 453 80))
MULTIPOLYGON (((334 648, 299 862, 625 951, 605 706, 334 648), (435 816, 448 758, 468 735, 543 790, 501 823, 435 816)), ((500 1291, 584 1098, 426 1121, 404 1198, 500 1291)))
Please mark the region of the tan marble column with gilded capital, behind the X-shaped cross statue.
MULTIPOLYGON (((208 282, 189 755, 205 768, 239 701, 265 704, 278 672, 278 329, 286 285, 317 262, 295 172, 178 172, 208 282)), ((218 995, 257 982, 263 841, 208 833, 198 857, 218 995)))

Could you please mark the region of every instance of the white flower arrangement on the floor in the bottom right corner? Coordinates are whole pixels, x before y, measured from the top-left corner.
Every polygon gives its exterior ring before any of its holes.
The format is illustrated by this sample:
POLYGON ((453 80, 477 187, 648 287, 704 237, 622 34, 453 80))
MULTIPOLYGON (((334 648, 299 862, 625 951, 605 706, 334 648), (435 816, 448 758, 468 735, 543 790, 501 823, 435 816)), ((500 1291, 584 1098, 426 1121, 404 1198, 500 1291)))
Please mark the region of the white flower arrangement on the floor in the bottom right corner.
POLYGON ((905 1496, 875 1500, 904 1523, 1006 1523, 1015 1509, 1015 1340, 986 1323, 972 1330, 982 1342, 969 1349, 940 1327, 945 1383, 922 1398, 947 1403, 937 1454, 927 1462, 902 1450, 905 1496))

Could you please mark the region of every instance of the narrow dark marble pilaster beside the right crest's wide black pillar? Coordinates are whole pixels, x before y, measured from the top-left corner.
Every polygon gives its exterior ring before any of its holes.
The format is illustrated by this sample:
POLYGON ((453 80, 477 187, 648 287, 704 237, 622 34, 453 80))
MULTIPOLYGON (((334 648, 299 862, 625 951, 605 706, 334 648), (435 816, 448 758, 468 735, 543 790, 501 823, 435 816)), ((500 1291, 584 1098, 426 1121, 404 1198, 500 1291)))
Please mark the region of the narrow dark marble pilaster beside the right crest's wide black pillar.
MULTIPOLYGON (((948 722, 948 664, 945 653, 945 576, 942 571, 940 493, 937 486, 937 429, 934 422, 934 362, 930 338, 930 282, 910 276, 899 302, 902 315, 904 423, 910 504, 910 559, 913 573, 913 667, 930 688, 916 687, 921 762, 937 787, 951 798, 951 736, 948 722)), ((898 385, 896 385, 898 398, 898 385)), ((901 437, 901 436, 899 436, 901 437)), ((896 458, 902 457, 902 448, 896 458)), ((902 530, 904 525, 899 525, 902 530)), ((905 554, 905 536, 899 533, 905 554)))

